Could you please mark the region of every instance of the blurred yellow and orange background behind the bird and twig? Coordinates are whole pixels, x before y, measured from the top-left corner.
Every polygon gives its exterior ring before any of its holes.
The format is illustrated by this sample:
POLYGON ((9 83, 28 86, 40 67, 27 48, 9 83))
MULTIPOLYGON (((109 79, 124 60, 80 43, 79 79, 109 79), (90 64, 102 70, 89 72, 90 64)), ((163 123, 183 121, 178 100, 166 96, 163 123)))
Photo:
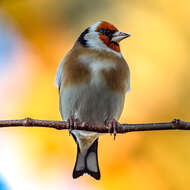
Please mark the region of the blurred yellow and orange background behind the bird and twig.
MULTIPOLYGON (((131 91, 120 122, 190 121, 189 6, 186 0, 1 0, 0 119, 61 120, 59 62, 85 28, 105 20, 131 34, 121 43, 131 91)), ((101 180, 73 180, 76 145, 67 131, 2 128, 0 189, 187 190, 189 137, 188 131, 136 132, 114 142, 104 135, 101 180)))

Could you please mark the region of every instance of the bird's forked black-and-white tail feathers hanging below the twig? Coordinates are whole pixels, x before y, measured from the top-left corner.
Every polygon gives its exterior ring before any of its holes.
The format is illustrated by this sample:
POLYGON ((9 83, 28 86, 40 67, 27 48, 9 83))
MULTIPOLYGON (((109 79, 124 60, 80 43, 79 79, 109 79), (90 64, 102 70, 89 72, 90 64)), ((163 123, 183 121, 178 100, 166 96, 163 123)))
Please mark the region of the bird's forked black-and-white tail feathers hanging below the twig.
MULTIPOLYGON (((75 141, 76 138, 73 135, 75 141)), ((89 147, 86 153, 82 153, 77 143, 77 158, 75 167, 73 169, 73 178, 80 177, 81 175, 87 173, 94 177, 95 179, 100 179, 100 170, 98 166, 97 148, 98 148, 98 138, 89 147)))

